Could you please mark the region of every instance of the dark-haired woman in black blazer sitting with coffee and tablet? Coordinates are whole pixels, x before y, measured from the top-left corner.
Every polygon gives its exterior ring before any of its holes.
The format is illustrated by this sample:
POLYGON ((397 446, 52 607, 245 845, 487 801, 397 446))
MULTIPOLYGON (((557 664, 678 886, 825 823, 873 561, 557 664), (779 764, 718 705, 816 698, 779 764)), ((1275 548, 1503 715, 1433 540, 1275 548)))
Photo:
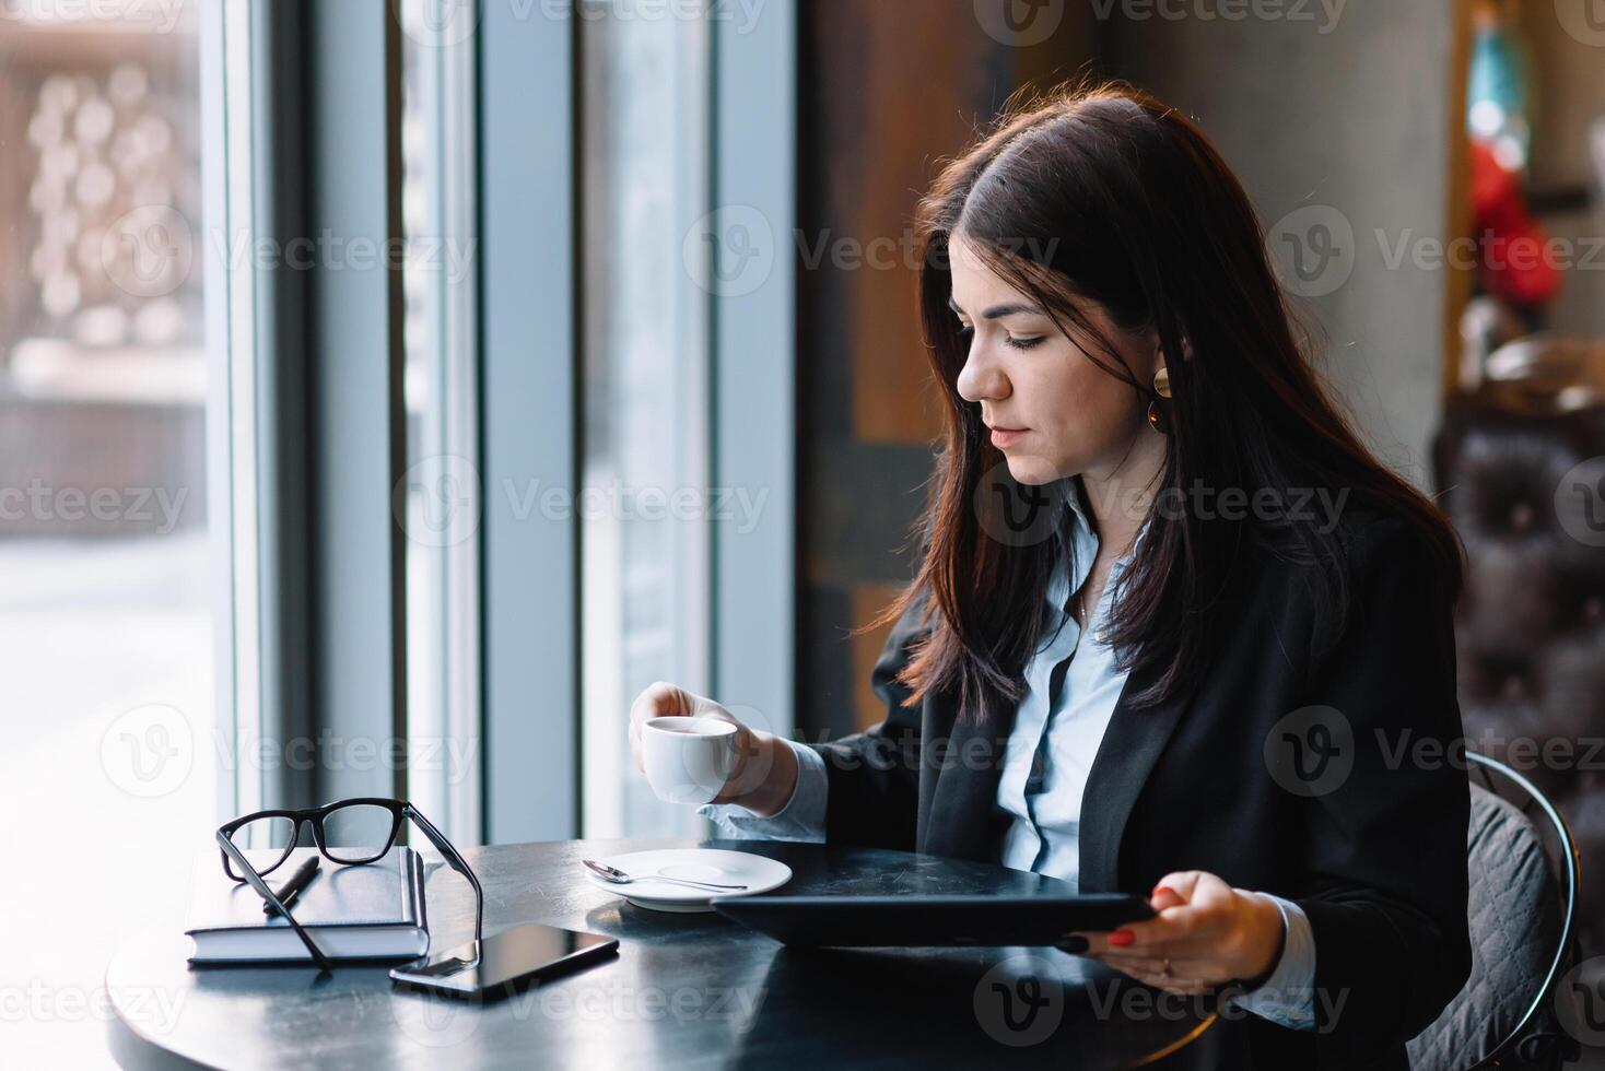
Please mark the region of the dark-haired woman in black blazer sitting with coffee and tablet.
MULTIPOLYGON (((886 720, 743 729, 705 813, 1148 893, 1064 949, 1241 986, 1244 1063, 1406 1066, 1470 970, 1459 540, 1339 414, 1175 111, 1104 85, 1006 112, 920 239, 945 449, 878 622, 886 720)), ((632 747, 664 713, 729 717, 660 681, 632 747)))

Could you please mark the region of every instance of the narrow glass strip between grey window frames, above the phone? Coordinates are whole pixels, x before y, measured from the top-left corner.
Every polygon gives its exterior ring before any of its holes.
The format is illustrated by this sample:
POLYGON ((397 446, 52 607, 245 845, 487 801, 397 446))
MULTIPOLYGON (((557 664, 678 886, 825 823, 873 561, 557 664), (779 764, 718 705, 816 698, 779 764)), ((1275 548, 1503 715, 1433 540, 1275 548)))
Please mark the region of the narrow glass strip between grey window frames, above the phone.
MULTIPOLYGON (((462 27, 469 3, 451 5, 462 27)), ((396 494, 408 579, 408 797, 454 843, 480 842, 475 447, 473 38, 440 5, 398 3, 401 224, 408 240, 406 449, 396 494)))

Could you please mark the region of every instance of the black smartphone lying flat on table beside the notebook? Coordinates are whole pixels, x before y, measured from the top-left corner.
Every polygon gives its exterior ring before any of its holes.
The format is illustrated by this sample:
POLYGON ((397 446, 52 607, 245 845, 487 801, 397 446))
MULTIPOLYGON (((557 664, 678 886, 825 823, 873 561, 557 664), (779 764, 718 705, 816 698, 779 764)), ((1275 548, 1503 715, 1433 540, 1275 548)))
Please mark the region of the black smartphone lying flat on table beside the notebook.
POLYGON ((530 922, 491 933, 480 941, 390 968, 390 978, 409 989, 453 997, 499 997, 518 983, 560 975, 618 952, 618 938, 530 922))

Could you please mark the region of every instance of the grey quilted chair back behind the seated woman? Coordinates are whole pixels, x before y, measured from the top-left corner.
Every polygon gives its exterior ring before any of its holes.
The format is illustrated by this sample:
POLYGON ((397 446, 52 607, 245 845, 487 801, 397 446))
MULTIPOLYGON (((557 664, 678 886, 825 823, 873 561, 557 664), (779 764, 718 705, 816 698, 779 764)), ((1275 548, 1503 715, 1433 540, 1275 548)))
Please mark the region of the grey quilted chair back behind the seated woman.
MULTIPOLYGON (((1560 893, 1538 829, 1515 805, 1478 784, 1469 787, 1472 976, 1438 1021, 1409 1042, 1416 1071, 1461 1071, 1493 1052, 1522 1023, 1560 941, 1560 893)), ((1554 1033, 1549 1013, 1546 1004, 1523 1034, 1554 1033)), ((1539 1052, 1554 1057, 1555 1047, 1539 1052)), ((1531 1065, 1512 1053, 1505 1066, 1531 1065)))

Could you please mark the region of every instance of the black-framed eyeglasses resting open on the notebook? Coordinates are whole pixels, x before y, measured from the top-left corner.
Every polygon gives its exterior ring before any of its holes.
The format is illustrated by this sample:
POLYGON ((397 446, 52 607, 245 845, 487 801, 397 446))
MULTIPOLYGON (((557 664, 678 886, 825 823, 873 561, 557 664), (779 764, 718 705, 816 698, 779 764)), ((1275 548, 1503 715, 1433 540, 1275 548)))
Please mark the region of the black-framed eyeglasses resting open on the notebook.
POLYGON ((403 818, 417 822, 430 843, 445 856, 446 866, 469 879, 469 885, 473 887, 473 948, 478 949, 485 932, 485 890, 480 888, 480 879, 473 877, 473 871, 451 847, 445 834, 406 800, 361 797, 335 800, 323 806, 254 811, 218 826, 217 843, 223 851, 223 872, 234 882, 249 883, 273 904, 274 911, 284 915, 284 920, 300 936, 318 967, 331 970, 329 957, 323 954, 311 935, 295 922, 295 917, 263 879, 291 858, 303 824, 311 826, 313 843, 318 845, 323 858, 345 866, 361 866, 374 863, 390 851, 401 831, 403 818), (257 845, 266 845, 278 853, 278 858, 262 869, 252 867, 242 851, 242 848, 257 845))

